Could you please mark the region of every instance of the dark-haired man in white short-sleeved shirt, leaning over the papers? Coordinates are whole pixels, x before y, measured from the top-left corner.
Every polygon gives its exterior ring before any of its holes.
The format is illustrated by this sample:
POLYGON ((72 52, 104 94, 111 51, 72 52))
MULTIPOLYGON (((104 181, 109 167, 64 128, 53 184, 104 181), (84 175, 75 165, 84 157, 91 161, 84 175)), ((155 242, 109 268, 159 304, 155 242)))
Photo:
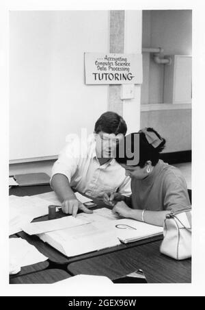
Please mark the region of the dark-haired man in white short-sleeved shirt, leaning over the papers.
POLYGON ((102 199, 103 195, 108 198, 116 191, 124 196, 131 195, 131 178, 125 176, 124 169, 114 158, 116 143, 126 130, 120 115, 105 112, 96 121, 94 134, 83 147, 73 139, 59 154, 52 169, 51 187, 61 200, 64 213, 74 217, 79 209, 92 213, 77 200, 72 187, 92 198, 102 199))

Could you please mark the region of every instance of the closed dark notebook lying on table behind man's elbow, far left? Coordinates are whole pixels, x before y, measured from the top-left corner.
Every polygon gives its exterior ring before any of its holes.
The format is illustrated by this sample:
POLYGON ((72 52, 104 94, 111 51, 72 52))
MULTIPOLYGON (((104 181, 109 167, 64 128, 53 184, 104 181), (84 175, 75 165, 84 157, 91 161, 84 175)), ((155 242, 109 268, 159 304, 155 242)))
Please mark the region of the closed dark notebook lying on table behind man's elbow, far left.
POLYGON ((19 187, 50 184, 50 177, 43 172, 36 174, 16 174, 13 178, 17 183, 15 185, 19 187))

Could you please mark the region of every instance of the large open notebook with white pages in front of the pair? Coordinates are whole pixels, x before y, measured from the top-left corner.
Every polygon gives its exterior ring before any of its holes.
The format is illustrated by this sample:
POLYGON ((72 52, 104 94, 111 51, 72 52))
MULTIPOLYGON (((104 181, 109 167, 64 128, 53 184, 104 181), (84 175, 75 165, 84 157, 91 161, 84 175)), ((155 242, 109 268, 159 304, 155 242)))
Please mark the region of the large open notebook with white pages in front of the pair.
POLYGON ((67 257, 74 257, 163 235, 163 227, 134 219, 116 219, 108 208, 100 208, 92 214, 81 213, 77 219, 84 219, 88 224, 38 234, 38 237, 67 257))

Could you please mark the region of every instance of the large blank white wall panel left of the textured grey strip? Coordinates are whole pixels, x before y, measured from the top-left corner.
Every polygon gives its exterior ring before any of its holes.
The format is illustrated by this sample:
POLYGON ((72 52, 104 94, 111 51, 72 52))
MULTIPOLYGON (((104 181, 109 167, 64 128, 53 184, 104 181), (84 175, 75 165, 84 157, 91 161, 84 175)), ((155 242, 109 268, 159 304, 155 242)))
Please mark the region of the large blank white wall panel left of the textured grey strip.
POLYGON ((109 86, 85 85, 85 51, 109 51, 108 11, 10 12, 10 159, 55 156, 68 133, 93 132, 109 86))

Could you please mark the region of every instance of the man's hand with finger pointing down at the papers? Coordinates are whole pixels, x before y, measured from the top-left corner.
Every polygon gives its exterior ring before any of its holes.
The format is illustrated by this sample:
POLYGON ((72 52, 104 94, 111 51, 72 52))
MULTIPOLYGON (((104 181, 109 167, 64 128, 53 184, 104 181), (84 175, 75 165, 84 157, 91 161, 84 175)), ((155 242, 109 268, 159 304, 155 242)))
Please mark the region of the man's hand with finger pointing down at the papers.
POLYGON ((76 217, 78 210, 81 210, 85 213, 93 213, 92 210, 89 210, 82 202, 77 200, 77 198, 66 199, 62 202, 62 211, 66 214, 71 214, 76 217))

